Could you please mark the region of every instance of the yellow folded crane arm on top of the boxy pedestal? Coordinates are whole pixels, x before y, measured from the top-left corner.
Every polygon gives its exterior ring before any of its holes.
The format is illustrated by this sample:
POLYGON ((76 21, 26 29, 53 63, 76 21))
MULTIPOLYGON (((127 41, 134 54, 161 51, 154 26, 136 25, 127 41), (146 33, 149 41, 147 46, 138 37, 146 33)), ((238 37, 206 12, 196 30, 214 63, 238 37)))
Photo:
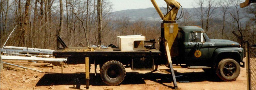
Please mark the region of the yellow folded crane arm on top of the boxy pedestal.
POLYGON ((167 3, 169 7, 172 8, 169 12, 167 12, 166 15, 162 13, 161 9, 156 4, 156 1, 151 0, 152 4, 154 5, 156 11, 158 12, 159 16, 163 19, 163 21, 175 23, 175 18, 180 8, 180 4, 176 0, 164 0, 164 1, 167 3))

